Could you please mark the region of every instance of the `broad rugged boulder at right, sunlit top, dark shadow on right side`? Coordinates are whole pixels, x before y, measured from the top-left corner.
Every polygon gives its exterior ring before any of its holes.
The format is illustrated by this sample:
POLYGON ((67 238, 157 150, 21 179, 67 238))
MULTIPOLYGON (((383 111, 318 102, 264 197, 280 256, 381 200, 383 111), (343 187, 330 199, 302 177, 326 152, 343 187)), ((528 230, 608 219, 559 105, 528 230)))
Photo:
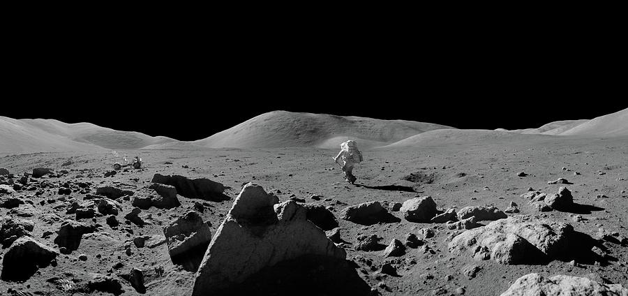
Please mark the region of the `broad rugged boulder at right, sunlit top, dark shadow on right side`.
POLYGON ((467 230, 449 242, 449 251, 505 265, 532 264, 567 253, 574 228, 567 223, 513 216, 467 230))

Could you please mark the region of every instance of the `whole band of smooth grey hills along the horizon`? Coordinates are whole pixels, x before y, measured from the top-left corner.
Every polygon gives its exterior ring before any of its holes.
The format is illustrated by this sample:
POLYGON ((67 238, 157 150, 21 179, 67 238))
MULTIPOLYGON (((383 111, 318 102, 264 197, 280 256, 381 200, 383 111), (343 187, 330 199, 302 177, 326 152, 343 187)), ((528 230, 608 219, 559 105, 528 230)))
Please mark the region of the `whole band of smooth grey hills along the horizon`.
POLYGON ((103 149, 205 148, 339 148, 345 140, 359 147, 415 145, 483 140, 523 139, 526 135, 628 137, 628 108, 595 119, 554 121, 539 128, 507 131, 458 130, 451 126, 408 120, 273 111, 196 141, 179 141, 133 131, 116 131, 89 123, 55 119, 12 119, 0 116, 0 153, 97 151, 103 149), (522 135, 518 137, 516 135, 522 135), (513 138, 514 137, 514 138, 513 138))

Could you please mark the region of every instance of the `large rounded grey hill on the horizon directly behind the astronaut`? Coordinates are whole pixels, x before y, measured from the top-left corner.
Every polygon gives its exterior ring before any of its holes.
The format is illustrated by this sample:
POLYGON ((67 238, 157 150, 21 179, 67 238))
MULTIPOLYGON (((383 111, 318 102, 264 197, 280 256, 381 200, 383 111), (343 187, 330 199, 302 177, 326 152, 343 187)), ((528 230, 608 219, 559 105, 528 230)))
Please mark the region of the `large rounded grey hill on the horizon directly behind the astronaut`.
POLYGON ((406 120, 382 120, 367 117, 341 117, 329 114, 274 111, 261 114, 237 126, 194 143, 210 148, 338 148, 347 140, 357 140, 360 147, 377 147, 412 135, 451 128, 406 120))

